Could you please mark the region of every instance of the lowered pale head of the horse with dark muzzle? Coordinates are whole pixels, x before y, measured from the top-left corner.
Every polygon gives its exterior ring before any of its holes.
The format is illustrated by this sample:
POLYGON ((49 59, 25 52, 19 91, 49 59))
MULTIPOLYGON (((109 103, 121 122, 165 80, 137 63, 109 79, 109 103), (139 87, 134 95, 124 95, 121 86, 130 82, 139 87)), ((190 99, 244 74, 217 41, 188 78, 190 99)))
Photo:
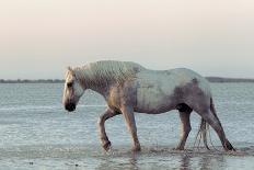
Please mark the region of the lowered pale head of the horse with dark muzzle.
POLYGON ((66 72, 66 82, 62 95, 62 104, 66 110, 72 112, 79 102, 80 97, 83 94, 84 89, 77 79, 76 72, 68 67, 66 72))

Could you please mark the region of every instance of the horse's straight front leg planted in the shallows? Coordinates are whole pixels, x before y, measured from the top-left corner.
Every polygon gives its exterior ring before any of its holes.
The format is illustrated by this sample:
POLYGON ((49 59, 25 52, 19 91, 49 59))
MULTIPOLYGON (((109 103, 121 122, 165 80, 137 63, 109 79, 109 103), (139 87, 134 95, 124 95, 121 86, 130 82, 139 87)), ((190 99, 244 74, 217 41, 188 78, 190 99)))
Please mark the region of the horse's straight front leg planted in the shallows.
POLYGON ((130 106, 123 106, 122 113, 125 116, 126 125, 127 125, 128 131, 132 137, 132 141, 134 141, 132 151, 140 151, 141 148, 140 148, 140 144, 138 140, 138 135, 137 135, 137 127, 136 127, 136 122, 135 122, 134 109, 130 106))

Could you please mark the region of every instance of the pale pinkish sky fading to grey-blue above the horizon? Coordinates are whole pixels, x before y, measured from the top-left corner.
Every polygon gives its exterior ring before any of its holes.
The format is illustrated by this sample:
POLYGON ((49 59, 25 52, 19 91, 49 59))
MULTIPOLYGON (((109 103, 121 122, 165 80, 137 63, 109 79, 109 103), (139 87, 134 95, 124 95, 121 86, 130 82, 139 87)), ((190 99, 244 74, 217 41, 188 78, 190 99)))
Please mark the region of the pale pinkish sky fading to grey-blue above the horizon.
POLYGON ((254 78, 253 0, 1 0, 0 79, 62 79, 68 66, 254 78))

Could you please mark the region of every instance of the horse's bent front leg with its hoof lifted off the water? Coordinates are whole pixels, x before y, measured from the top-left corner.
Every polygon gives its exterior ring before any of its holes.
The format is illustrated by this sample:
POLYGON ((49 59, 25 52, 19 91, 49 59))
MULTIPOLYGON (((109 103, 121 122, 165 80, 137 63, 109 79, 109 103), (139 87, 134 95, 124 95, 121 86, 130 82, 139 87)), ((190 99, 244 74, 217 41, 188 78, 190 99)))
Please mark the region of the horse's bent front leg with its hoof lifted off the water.
POLYGON ((97 121, 100 139, 102 143, 102 147, 107 151, 111 148, 111 141, 107 138, 105 131, 105 122, 106 120, 120 114, 119 112, 115 112, 111 109, 107 109, 104 114, 102 114, 97 121))

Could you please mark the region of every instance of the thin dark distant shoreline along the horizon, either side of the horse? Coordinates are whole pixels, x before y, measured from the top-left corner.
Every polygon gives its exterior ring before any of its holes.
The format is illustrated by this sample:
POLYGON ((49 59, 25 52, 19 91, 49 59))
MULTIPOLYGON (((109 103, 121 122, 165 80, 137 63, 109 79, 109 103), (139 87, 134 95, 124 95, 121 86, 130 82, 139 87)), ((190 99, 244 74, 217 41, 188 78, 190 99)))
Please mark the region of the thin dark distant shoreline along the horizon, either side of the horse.
MULTIPOLYGON (((222 77, 206 77, 210 82, 254 82, 254 79, 244 79, 244 78, 222 78, 222 77)), ((0 83, 64 83, 65 80, 60 79, 38 79, 38 80, 28 80, 28 79, 18 79, 18 80, 3 80, 0 79, 0 83)))

